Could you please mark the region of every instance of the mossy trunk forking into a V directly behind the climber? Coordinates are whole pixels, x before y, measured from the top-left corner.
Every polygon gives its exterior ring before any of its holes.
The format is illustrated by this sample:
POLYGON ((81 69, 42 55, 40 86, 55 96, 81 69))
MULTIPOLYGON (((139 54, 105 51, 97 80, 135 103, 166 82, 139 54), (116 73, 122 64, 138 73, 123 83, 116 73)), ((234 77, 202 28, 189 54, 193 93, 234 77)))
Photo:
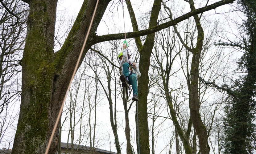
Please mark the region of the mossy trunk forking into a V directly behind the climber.
MULTIPOLYGON (((152 7, 149 28, 157 25, 157 19, 159 11, 161 10, 161 0, 155 0, 154 5, 152 7)), ((130 0, 126 0, 128 11, 130 14, 131 22, 133 25, 134 31, 138 31, 138 24, 134 15, 134 11, 131 6, 130 0)), ((148 34, 144 46, 142 46, 141 40, 139 38, 135 38, 135 43, 137 45, 138 51, 140 53, 139 67, 141 70, 141 77, 138 78, 138 125, 139 130, 139 141, 137 140, 137 145, 139 142, 139 148, 137 150, 143 154, 150 153, 149 147, 149 130, 148 130, 148 121, 147 121, 147 95, 148 95, 148 70, 150 66, 150 57, 152 53, 152 49, 154 46, 155 33, 148 34)))

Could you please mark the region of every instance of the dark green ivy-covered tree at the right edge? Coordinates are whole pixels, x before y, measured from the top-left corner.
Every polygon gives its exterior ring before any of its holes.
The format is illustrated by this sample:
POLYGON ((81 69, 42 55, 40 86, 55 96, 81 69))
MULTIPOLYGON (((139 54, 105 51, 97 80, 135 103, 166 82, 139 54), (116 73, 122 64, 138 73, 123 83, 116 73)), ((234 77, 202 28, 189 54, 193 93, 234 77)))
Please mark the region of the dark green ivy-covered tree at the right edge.
MULTIPOLYGON (((242 45, 244 55, 239 59, 238 69, 246 75, 240 76, 231 87, 233 95, 229 95, 231 105, 225 107, 225 141, 224 153, 253 153, 255 124, 255 90, 256 90, 256 1, 241 0, 242 11, 247 20, 241 28, 247 34, 242 45)), ((238 44, 237 46, 241 46, 238 44)))

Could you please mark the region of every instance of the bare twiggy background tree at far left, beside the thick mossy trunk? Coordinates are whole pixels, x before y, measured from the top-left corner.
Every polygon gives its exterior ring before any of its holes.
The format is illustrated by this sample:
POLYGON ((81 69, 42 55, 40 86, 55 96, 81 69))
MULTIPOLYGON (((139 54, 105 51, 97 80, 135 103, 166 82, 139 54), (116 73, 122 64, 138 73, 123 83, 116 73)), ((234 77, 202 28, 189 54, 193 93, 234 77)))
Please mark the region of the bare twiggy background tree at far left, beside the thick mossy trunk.
POLYGON ((28 6, 17 0, 0 5, 0 145, 8 148, 14 139, 15 109, 20 100, 20 62, 26 37, 28 6), (9 145, 8 145, 9 144, 9 145))

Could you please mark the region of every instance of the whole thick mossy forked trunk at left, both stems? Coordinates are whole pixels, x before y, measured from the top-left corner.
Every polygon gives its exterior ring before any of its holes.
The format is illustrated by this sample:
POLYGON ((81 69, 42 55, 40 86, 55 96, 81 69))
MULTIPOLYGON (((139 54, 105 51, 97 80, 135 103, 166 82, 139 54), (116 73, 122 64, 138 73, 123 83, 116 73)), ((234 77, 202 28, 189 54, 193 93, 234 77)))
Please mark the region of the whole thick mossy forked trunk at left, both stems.
MULTIPOLYGON (((99 2, 85 51, 110 0, 99 2)), ((22 59, 21 108, 12 153, 43 154, 76 65, 96 0, 85 0, 63 47, 53 51, 57 0, 31 0, 22 59)), ((83 53, 82 59, 86 52, 83 53)), ((56 153, 59 127, 49 153, 56 153)))

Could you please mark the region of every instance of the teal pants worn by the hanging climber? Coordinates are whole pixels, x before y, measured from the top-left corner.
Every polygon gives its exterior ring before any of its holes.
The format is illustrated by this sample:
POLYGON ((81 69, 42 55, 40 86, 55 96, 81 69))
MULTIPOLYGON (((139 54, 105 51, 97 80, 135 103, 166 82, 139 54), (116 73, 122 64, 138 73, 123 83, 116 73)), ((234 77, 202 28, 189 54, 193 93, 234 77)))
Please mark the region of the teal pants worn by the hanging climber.
POLYGON ((128 77, 129 82, 128 84, 132 85, 132 92, 133 95, 136 94, 138 96, 138 87, 137 87, 137 75, 135 73, 129 73, 129 64, 124 63, 123 65, 123 74, 125 77, 128 77))

